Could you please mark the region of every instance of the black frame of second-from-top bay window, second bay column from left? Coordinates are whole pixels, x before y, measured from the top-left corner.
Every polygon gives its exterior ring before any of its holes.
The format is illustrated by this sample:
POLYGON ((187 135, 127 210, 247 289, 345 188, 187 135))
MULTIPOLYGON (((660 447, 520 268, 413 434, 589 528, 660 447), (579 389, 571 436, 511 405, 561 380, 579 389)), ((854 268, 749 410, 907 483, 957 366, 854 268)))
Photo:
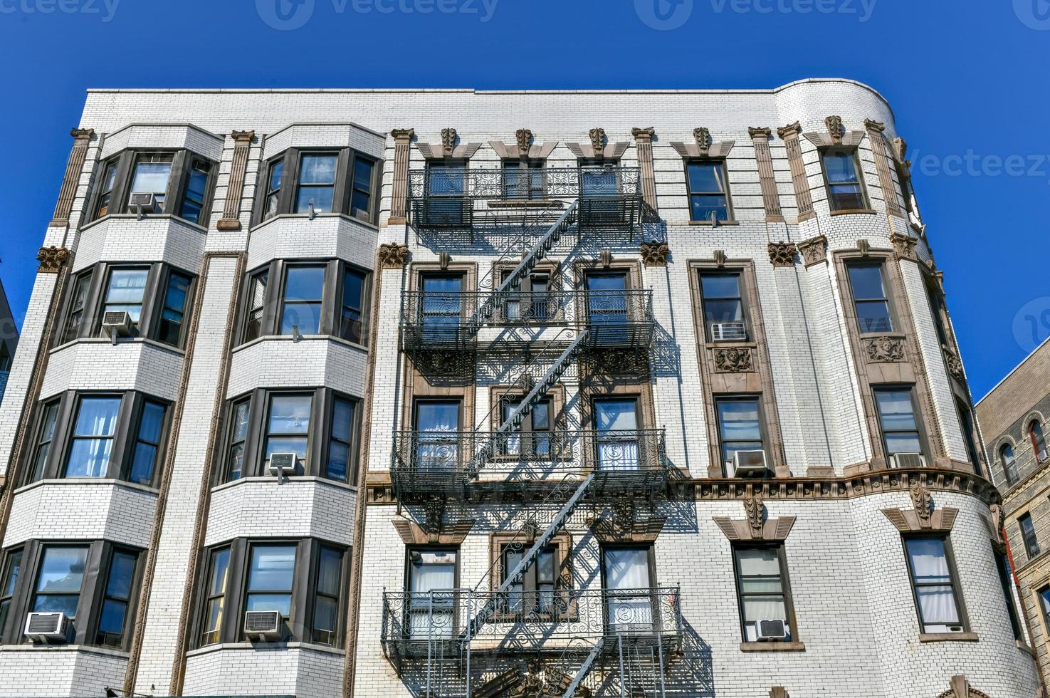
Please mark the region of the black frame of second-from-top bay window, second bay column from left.
MULTIPOLYGON (((324 269, 318 336, 346 342, 366 349, 372 332, 372 272, 338 259, 273 260, 246 273, 242 282, 242 297, 244 300, 237 312, 237 345, 243 346, 264 337, 291 336, 281 333, 281 322, 288 270, 295 267, 323 267, 324 269), (343 336, 343 290, 346 274, 350 273, 358 274, 361 278, 360 342, 343 336), (255 286, 257 280, 264 276, 266 276, 266 282, 261 291, 262 305, 256 306, 255 286), (257 334, 250 327, 253 315, 256 313, 258 315, 257 334)), ((302 332, 302 334, 312 333, 302 332)))

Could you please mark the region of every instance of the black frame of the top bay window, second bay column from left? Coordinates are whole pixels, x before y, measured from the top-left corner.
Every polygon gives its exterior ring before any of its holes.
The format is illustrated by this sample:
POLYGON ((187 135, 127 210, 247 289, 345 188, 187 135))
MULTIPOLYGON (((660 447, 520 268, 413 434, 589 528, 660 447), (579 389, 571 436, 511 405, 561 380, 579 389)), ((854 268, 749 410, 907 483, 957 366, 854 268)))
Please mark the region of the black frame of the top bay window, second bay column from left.
POLYGON ((366 152, 355 150, 354 148, 288 148, 274 158, 267 160, 259 167, 259 179, 256 187, 262 196, 256 197, 255 211, 252 217, 252 225, 261 225, 271 219, 281 215, 295 215, 299 218, 309 217, 308 211, 296 212, 296 199, 299 191, 299 169, 303 156, 310 155, 336 155, 335 183, 332 194, 332 212, 320 213, 316 217, 345 217, 355 221, 376 226, 379 222, 379 193, 382 185, 383 160, 370 156, 366 152), (355 211, 352 207, 353 193, 357 188, 354 174, 357 162, 365 160, 372 163, 372 180, 370 182, 371 197, 369 210, 363 213, 355 211), (277 164, 282 167, 280 186, 277 189, 271 188, 271 174, 277 164), (271 207, 271 200, 276 196, 275 205, 271 207))

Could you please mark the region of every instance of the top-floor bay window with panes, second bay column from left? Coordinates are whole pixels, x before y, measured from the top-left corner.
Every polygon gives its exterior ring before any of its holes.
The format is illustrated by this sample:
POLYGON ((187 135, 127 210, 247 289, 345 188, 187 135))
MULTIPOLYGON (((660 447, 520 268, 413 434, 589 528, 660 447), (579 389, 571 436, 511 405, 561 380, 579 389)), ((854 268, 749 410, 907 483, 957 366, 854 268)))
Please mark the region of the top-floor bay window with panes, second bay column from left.
POLYGON ((379 161, 360 152, 289 148, 262 168, 256 222, 280 214, 348 214, 375 223, 379 161))

